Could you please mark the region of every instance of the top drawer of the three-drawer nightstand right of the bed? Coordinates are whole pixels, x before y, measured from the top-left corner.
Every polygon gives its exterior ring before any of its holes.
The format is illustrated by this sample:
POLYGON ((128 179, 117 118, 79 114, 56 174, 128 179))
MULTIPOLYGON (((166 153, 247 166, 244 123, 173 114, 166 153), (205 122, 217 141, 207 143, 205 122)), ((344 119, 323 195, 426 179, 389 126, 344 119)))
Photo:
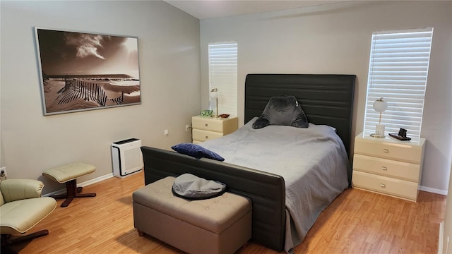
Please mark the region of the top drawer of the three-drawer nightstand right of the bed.
POLYGON ((357 154, 397 159, 415 164, 421 163, 423 155, 422 148, 418 145, 410 145, 410 143, 375 142, 374 140, 362 138, 355 140, 355 153, 357 154))

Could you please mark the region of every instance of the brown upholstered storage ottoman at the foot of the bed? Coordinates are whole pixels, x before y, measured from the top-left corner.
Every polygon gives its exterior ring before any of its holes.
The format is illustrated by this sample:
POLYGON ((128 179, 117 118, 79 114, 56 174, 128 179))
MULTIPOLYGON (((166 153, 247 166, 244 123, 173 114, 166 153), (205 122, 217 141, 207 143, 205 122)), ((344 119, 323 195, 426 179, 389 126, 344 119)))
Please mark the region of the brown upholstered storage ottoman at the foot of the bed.
POLYGON ((233 193, 185 200, 172 193, 174 177, 133 192, 133 224, 186 253, 234 253, 251 238, 251 201, 233 193))

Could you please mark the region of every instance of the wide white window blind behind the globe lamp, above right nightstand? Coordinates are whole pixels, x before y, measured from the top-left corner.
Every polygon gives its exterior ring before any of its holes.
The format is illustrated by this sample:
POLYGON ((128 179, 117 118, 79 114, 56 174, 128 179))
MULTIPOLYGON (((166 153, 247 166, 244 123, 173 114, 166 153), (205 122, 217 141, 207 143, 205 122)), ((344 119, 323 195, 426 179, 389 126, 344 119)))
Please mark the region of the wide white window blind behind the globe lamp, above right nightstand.
POLYGON ((374 32, 367 83, 364 133, 375 133, 380 114, 372 104, 383 97, 388 109, 381 114, 387 133, 405 128, 420 138, 433 28, 374 32))

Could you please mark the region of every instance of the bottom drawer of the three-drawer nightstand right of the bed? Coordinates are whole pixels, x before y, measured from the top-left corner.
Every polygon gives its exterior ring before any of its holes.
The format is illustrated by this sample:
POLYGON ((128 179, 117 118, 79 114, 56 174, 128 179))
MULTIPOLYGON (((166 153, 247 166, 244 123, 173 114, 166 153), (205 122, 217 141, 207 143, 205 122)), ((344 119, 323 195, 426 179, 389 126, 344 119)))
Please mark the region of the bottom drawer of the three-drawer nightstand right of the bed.
POLYGON ((408 200, 417 199, 417 183, 353 171, 353 187, 385 193, 408 200))

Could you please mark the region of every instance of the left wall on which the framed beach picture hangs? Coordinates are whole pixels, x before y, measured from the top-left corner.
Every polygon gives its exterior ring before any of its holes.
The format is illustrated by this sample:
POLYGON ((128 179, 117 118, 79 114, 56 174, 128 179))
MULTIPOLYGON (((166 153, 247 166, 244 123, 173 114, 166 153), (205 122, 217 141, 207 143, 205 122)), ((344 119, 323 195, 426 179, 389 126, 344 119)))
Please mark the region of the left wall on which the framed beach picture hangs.
POLYGON ((163 1, 1 1, 1 165, 8 178, 64 186, 42 171, 70 162, 112 173, 110 145, 189 142, 201 109, 199 20, 163 1), (34 27, 138 37, 142 104, 43 116, 34 27), (169 130, 165 137, 163 131, 169 130))

